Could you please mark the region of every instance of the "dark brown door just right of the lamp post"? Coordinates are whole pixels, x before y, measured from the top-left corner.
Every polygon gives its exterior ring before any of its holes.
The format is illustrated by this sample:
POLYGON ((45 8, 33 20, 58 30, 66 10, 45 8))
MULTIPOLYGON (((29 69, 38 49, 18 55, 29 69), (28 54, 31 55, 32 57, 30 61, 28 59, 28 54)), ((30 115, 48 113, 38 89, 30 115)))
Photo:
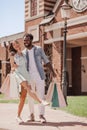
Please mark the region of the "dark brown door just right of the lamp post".
POLYGON ((72 94, 81 94, 81 47, 72 49, 72 94))

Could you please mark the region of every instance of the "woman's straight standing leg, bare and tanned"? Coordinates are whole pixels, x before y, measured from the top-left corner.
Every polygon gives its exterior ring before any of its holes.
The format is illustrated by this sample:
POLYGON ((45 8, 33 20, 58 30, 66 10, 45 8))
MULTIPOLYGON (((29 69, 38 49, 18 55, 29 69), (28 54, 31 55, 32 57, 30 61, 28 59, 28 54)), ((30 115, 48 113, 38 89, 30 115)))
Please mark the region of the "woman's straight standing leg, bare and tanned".
POLYGON ((18 115, 17 115, 18 117, 20 117, 21 115, 21 112, 25 103, 26 95, 27 95, 26 89, 24 89, 24 87, 21 87, 20 101, 18 105, 18 115))

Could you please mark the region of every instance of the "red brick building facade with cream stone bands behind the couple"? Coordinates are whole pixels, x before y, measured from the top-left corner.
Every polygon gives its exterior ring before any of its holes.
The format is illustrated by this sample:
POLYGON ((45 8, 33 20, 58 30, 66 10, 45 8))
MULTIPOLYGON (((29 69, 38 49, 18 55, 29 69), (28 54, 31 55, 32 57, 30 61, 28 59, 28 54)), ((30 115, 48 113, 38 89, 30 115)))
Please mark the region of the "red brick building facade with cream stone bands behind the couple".
MULTIPOLYGON (((51 60, 59 86, 62 85, 63 67, 64 20, 61 17, 63 2, 64 0, 25 0, 25 32, 0 39, 0 42, 19 39, 23 47, 24 33, 32 33, 33 43, 42 46, 51 60)), ((70 10, 70 19, 67 20, 68 95, 87 94, 87 1, 84 2, 77 7, 75 0, 69 1, 73 8, 70 10)), ((0 47, 0 52, 0 82, 3 82, 8 73, 6 71, 9 70, 8 63, 4 61, 8 59, 9 54, 3 47, 0 47)), ((47 68, 44 69, 48 88, 50 72, 47 68)))

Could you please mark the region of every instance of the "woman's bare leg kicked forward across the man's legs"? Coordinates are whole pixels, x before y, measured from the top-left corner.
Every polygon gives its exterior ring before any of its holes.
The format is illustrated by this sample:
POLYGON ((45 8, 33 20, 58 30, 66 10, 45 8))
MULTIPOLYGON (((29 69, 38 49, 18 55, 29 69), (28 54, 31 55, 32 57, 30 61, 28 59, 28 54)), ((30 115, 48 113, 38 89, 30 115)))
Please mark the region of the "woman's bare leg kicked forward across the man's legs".
POLYGON ((27 90, 27 93, 36 101, 41 103, 41 100, 38 98, 38 96, 31 90, 31 86, 28 85, 27 81, 23 81, 21 85, 27 90))

